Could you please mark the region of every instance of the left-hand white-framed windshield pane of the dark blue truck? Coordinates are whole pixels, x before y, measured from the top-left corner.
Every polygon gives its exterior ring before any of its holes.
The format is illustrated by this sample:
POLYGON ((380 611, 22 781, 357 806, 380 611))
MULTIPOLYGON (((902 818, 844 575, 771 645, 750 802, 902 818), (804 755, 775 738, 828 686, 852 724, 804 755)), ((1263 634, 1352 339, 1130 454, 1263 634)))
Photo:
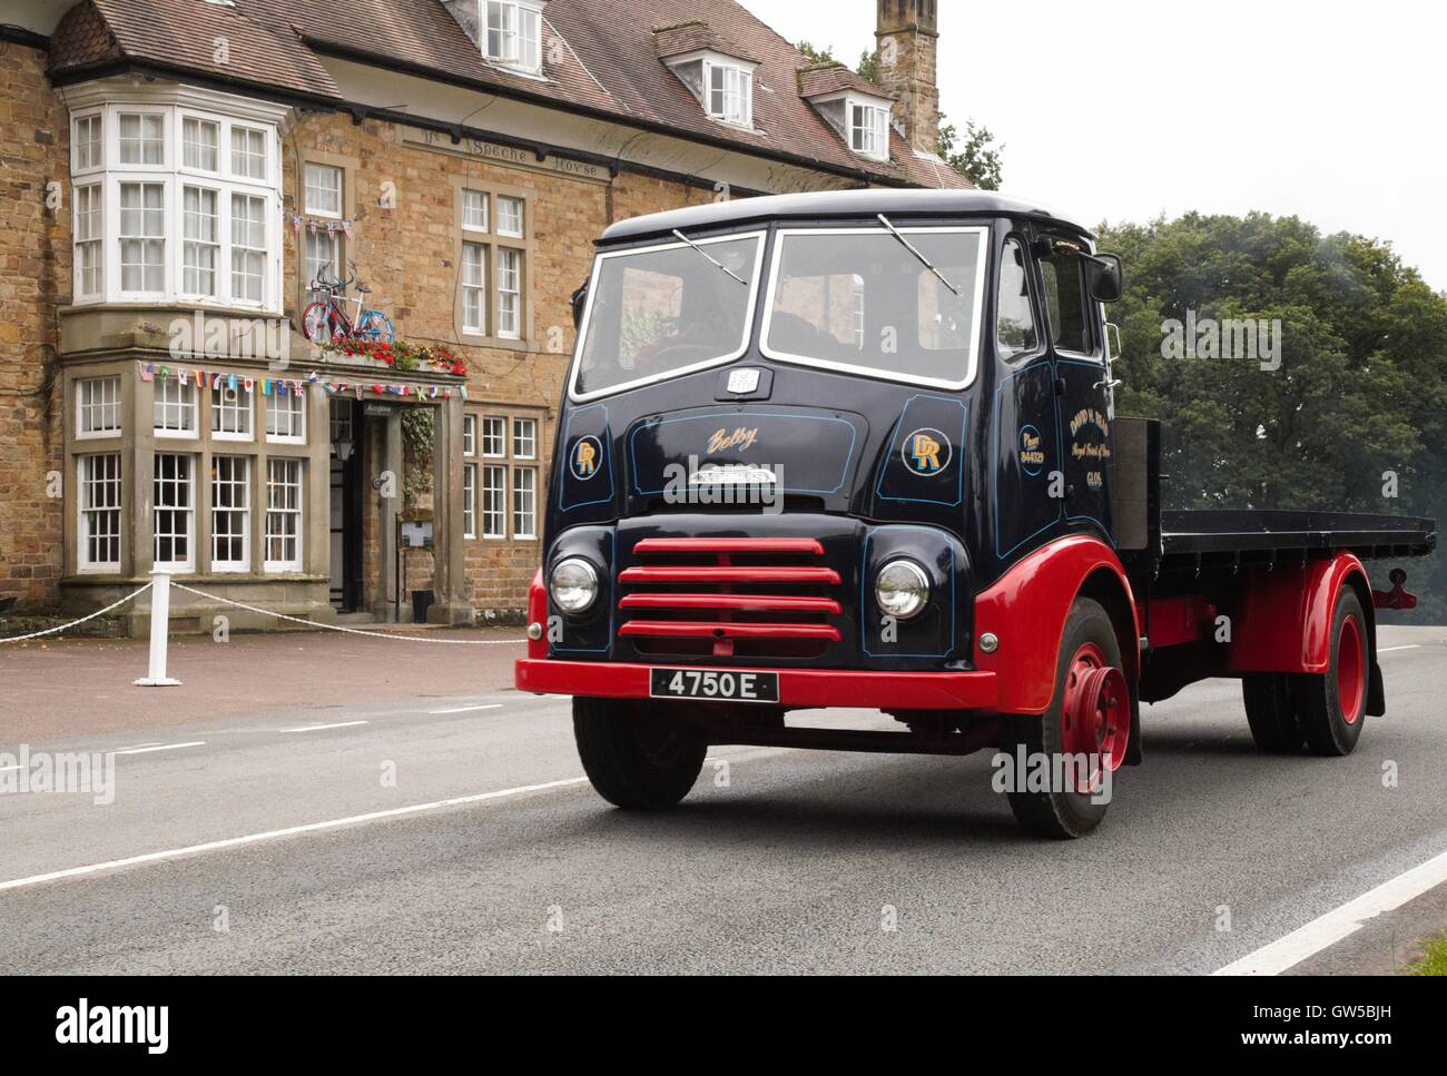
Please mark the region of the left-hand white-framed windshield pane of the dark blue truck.
POLYGON ((748 346, 761 233, 602 255, 574 396, 737 359, 748 346))

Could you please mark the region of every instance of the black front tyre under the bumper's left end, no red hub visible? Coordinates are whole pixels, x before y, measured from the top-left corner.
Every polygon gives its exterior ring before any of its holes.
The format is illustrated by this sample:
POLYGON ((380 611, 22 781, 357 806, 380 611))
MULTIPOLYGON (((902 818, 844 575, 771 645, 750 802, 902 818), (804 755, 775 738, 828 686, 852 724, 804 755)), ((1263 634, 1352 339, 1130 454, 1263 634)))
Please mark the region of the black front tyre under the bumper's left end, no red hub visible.
POLYGON ((682 714, 619 699, 574 699, 583 772, 615 807, 671 807, 693 788, 708 742, 682 714))

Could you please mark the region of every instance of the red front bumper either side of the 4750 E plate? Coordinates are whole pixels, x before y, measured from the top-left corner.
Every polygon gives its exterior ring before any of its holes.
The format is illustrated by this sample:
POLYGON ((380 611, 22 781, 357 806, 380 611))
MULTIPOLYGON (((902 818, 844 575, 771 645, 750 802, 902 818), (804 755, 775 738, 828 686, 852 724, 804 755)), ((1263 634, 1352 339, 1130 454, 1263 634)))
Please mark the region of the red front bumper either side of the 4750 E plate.
MULTIPOLYGON (((651 668, 603 661, 518 661, 514 683, 519 691, 573 694, 598 699, 648 699, 651 668)), ((715 667, 709 667, 715 668, 715 667)), ((786 710, 842 706, 865 710, 994 710, 998 704, 996 674, 978 672, 867 672, 855 670, 758 668, 731 672, 777 672, 778 704, 786 710)), ((748 703, 744 703, 748 706, 748 703)))

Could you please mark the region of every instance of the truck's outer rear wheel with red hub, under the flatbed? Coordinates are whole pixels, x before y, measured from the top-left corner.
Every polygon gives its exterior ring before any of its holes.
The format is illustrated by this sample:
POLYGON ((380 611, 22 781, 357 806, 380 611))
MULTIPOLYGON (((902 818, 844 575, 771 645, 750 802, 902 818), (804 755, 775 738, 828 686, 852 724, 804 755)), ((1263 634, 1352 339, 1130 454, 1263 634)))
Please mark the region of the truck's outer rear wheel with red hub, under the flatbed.
POLYGON ((1312 755, 1350 755, 1366 722, 1366 616, 1351 587, 1341 587, 1331 616, 1331 664, 1295 678, 1301 732, 1312 755))

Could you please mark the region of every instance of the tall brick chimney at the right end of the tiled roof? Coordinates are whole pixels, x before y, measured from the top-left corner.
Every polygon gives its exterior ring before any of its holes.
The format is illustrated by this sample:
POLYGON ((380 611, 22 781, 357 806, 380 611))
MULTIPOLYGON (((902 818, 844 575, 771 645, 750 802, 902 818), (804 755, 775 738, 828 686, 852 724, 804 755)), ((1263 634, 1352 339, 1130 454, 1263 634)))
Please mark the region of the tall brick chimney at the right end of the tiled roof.
POLYGON ((875 0, 880 7, 878 82, 894 98, 894 120, 923 153, 939 150, 939 0, 875 0))

